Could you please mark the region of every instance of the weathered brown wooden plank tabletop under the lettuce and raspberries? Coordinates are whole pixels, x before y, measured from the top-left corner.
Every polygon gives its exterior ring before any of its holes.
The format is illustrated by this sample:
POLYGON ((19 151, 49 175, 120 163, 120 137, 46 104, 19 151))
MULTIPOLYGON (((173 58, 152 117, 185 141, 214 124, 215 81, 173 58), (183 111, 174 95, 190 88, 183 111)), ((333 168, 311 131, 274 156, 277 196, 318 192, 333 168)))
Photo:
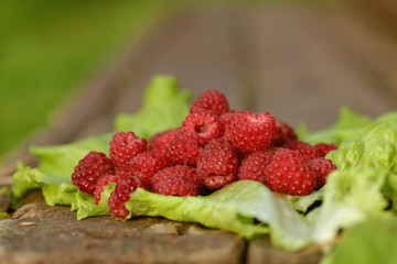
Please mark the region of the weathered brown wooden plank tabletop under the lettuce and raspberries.
MULTIPOLYGON (((164 22, 87 84, 35 144, 58 144, 111 131, 114 117, 135 111, 154 74, 175 75, 194 97, 218 89, 232 108, 270 111, 293 127, 331 125, 341 105, 376 117, 397 101, 396 43, 346 9, 240 7, 187 10, 164 22)), ((2 164, 10 182, 17 160, 2 164)), ((77 221, 67 207, 30 195, 0 222, 1 263, 318 263, 319 252, 288 253, 267 237, 236 235, 161 218, 122 223, 77 221)), ((1 198, 1 205, 8 197, 1 198)), ((3 206, 1 207, 3 208, 3 206)))

